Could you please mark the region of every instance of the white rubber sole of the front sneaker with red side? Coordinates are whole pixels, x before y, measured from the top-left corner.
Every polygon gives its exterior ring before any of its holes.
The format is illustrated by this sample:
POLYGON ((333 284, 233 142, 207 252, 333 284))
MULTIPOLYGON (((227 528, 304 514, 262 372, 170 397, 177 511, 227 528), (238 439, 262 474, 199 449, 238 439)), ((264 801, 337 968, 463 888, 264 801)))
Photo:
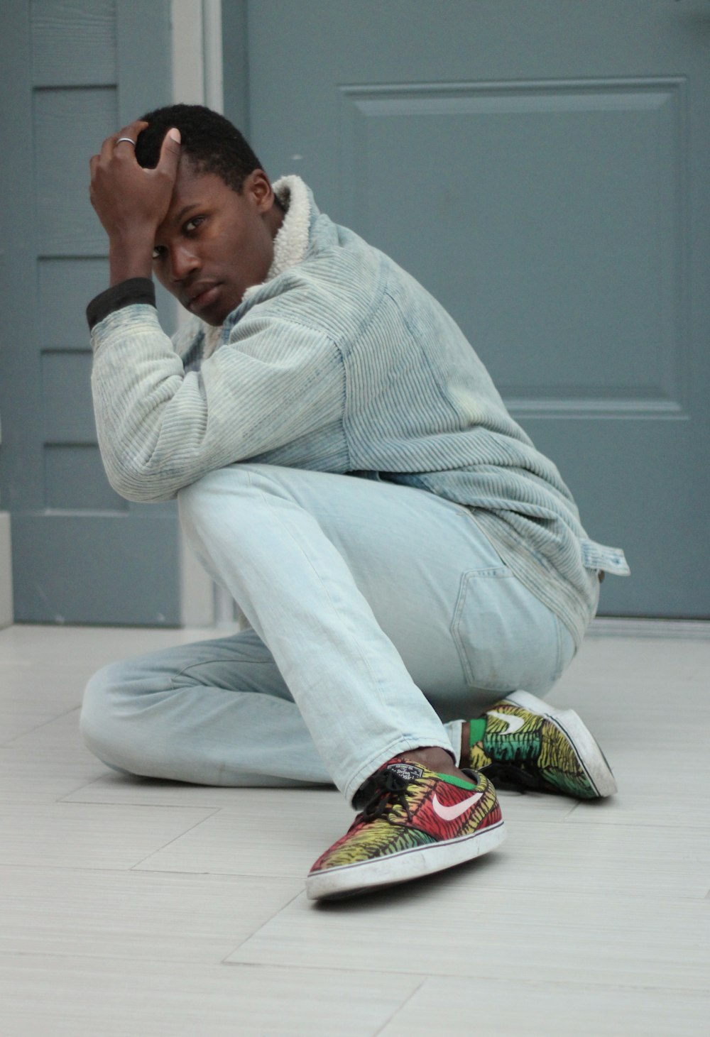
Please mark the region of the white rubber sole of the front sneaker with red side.
POLYGON ((395 882, 406 882, 412 878, 433 874, 454 868, 457 864, 473 861, 476 857, 495 849, 506 839, 508 833, 502 821, 490 828, 473 832, 458 839, 445 839, 431 846, 414 846, 375 858, 360 861, 342 868, 327 868, 325 871, 308 875, 306 896, 309 900, 327 900, 335 897, 350 897, 357 893, 376 890, 395 882))

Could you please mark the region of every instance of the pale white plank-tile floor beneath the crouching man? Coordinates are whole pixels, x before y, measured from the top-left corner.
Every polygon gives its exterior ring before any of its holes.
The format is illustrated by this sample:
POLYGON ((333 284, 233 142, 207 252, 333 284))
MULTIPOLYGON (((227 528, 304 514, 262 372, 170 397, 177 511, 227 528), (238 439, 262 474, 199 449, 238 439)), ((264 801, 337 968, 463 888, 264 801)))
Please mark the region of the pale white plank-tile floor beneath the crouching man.
POLYGON ((315 905, 331 790, 106 770, 77 733, 104 662, 203 632, 0 632, 3 1037, 674 1037, 710 1032, 710 624, 599 621, 551 698, 619 795, 501 795, 469 866, 315 905))

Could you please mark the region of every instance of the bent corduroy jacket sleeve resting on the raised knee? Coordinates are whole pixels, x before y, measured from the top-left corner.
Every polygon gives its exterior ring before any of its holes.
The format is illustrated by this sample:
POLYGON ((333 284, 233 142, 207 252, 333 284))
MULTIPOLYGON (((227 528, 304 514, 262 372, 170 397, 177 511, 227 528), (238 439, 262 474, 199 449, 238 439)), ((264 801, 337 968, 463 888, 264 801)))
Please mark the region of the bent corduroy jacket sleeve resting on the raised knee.
POLYGON ((343 416, 343 362, 318 330, 260 316, 185 371, 153 306, 129 305, 93 328, 91 388, 113 488, 165 501, 208 472, 267 453, 343 416))

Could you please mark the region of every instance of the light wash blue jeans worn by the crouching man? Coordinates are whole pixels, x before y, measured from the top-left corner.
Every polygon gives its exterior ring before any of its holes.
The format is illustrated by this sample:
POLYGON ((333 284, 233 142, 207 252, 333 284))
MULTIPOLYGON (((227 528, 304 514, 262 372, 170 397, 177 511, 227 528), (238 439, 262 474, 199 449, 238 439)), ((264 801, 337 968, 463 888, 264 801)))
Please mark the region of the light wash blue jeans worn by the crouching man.
POLYGON ((207 570, 251 629, 113 664, 82 732, 104 762, 207 785, 333 782, 438 746, 506 692, 544 695, 571 635, 471 512, 422 489, 235 465, 181 491, 207 570))

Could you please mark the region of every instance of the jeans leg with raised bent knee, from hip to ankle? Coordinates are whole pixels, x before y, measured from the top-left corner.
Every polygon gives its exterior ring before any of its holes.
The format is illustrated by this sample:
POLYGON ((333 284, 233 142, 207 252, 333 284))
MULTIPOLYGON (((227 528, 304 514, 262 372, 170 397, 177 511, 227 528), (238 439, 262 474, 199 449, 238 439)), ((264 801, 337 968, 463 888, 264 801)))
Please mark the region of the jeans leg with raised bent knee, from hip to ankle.
POLYGON ((493 607, 510 628, 500 650, 483 645, 493 658, 484 691, 520 671, 530 637, 518 651, 510 632, 532 617, 539 640, 536 609, 549 627, 544 668, 559 655, 554 617, 506 569, 469 512, 424 491, 238 465, 182 491, 180 507, 193 549, 268 645, 349 800, 393 755, 421 746, 455 753, 431 702, 476 686, 475 646, 461 650, 476 614, 493 607), (501 596, 511 581, 516 593, 501 596))

